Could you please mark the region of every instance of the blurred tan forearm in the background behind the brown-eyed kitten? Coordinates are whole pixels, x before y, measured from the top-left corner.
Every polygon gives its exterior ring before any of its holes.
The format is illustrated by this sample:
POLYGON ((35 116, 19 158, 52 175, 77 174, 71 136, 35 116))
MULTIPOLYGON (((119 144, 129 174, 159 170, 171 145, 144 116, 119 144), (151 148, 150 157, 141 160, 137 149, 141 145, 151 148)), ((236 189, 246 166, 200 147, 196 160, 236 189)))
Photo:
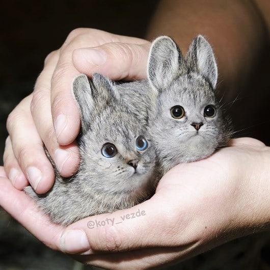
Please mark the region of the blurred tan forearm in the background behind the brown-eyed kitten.
POLYGON ((217 57, 219 87, 230 99, 248 82, 266 47, 260 12, 252 1, 161 0, 147 38, 169 35, 185 52, 196 35, 205 35, 217 57))

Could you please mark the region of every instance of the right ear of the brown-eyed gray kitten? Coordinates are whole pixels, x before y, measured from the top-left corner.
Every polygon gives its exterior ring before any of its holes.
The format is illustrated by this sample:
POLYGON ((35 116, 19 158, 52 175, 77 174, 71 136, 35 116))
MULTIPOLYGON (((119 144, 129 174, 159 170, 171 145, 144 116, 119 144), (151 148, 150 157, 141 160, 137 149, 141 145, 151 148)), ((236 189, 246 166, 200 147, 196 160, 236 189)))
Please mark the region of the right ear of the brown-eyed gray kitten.
POLYGON ((208 80, 215 89, 218 81, 218 67, 211 45, 203 36, 199 35, 192 41, 186 53, 186 63, 193 71, 208 80))

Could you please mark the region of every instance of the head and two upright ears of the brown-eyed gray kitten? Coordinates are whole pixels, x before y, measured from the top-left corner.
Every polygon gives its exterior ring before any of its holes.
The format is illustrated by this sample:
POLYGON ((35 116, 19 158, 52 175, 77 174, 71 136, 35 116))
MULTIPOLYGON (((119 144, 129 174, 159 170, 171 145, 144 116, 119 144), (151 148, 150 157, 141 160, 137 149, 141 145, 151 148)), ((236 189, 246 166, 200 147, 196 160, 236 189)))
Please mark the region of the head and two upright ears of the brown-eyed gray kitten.
POLYGON ((214 94, 218 68, 203 36, 192 41, 185 58, 170 37, 155 39, 147 72, 150 86, 158 92, 150 130, 164 172, 228 144, 229 121, 214 94))

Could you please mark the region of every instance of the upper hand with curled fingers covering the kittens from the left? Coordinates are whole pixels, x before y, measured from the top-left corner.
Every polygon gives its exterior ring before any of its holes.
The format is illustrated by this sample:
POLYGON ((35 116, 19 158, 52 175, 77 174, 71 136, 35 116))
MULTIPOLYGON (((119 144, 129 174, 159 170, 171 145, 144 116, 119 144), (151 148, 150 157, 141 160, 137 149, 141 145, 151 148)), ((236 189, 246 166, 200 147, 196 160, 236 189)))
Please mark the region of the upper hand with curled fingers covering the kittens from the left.
POLYGON ((112 79, 146 77, 150 42, 95 29, 76 29, 62 47, 51 52, 34 92, 8 117, 4 166, 13 185, 22 190, 28 182, 45 193, 55 179, 43 143, 64 177, 79 164, 74 140, 80 121, 71 82, 79 73, 100 72, 112 79))

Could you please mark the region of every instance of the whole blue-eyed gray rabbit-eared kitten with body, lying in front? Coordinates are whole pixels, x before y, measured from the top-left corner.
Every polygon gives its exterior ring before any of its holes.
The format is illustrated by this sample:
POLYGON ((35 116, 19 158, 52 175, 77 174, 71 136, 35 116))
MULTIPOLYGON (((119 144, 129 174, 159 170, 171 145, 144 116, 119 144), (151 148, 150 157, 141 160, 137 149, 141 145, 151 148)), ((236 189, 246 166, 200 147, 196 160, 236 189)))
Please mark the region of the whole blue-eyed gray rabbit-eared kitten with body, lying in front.
POLYGON ((73 93, 81 114, 77 172, 49 192, 25 192, 52 221, 68 225, 90 215, 128 208, 149 198, 157 184, 155 151, 146 130, 148 110, 135 114, 116 86, 100 74, 77 76, 73 93), (144 113, 146 115, 144 115, 144 113))

